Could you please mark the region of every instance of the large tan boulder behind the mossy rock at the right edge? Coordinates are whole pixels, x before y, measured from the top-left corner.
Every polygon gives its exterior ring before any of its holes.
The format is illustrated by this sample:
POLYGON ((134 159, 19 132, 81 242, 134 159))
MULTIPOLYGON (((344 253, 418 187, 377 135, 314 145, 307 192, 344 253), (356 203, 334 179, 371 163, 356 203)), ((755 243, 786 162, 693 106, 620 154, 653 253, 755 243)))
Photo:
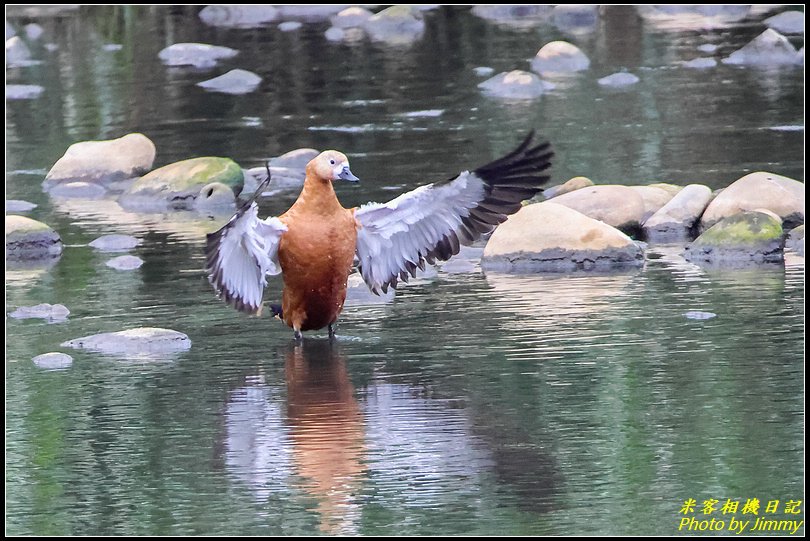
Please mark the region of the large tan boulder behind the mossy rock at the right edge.
POLYGON ((738 212, 768 209, 795 227, 804 222, 804 183, 774 173, 749 173, 724 189, 706 208, 701 228, 738 212))

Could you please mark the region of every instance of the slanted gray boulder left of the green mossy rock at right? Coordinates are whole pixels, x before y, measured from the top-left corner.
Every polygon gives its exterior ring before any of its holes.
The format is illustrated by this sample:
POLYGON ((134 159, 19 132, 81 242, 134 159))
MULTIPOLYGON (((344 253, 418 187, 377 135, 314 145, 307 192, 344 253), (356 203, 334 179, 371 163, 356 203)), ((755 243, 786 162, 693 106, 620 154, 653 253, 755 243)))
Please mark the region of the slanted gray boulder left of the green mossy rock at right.
POLYGON ((689 238, 711 200, 711 188, 689 184, 644 222, 644 237, 651 242, 689 238))

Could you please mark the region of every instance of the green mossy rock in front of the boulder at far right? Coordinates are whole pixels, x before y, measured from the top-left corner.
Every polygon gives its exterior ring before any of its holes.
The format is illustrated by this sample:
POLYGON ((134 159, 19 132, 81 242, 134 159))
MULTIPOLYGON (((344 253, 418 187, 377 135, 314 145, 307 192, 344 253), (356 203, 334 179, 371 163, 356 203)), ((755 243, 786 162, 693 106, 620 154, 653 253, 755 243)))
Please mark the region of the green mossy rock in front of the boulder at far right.
POLYGON ((782 224, 770 212, 746 211, 723 218, 686 247, 695 263, 739 264, 782 261, 782 224))

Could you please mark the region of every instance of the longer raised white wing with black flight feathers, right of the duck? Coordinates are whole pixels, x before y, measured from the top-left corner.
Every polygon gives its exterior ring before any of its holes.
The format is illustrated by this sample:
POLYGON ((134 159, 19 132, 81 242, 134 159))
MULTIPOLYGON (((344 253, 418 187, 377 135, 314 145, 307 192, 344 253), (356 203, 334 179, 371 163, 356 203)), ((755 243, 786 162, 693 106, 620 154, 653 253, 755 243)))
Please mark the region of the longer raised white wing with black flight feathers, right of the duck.
POLYGON ((554 153, 532 144, 534 132, 506 156, 445 182, 420 186, 388 203, 355 211, 357 257, 372 291, 387 291, 416 275, 425 261, 447 260, 460 244, 490 233, 539 192, 554 153))

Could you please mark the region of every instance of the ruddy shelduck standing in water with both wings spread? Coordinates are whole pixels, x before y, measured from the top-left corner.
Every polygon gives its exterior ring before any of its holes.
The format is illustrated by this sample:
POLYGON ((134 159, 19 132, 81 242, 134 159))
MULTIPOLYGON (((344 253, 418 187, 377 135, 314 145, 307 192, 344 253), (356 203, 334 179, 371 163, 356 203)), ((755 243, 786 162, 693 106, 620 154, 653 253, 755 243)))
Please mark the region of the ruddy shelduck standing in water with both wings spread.
MULTIPOLYGON (((357 182, 349 160, 327 150, 307 164, 301 195, 278 217, 260 220, 255 199, 208 235, 208 279, 227 303, 261 313, 266 276, 282 274, 281 306, 273 311, 293 328, 329 328, 346 300, 355 260, 363 280, 379 294, 416 276, 425 262, 445 261, 491 233, 548 181, 553 152, 533 145, 534 132, 515 150, 472 172, 420 186, 388 203, 346 209, 332 185, 357 182)), ((269 181, 269 178, 268 180, 269 181)))

